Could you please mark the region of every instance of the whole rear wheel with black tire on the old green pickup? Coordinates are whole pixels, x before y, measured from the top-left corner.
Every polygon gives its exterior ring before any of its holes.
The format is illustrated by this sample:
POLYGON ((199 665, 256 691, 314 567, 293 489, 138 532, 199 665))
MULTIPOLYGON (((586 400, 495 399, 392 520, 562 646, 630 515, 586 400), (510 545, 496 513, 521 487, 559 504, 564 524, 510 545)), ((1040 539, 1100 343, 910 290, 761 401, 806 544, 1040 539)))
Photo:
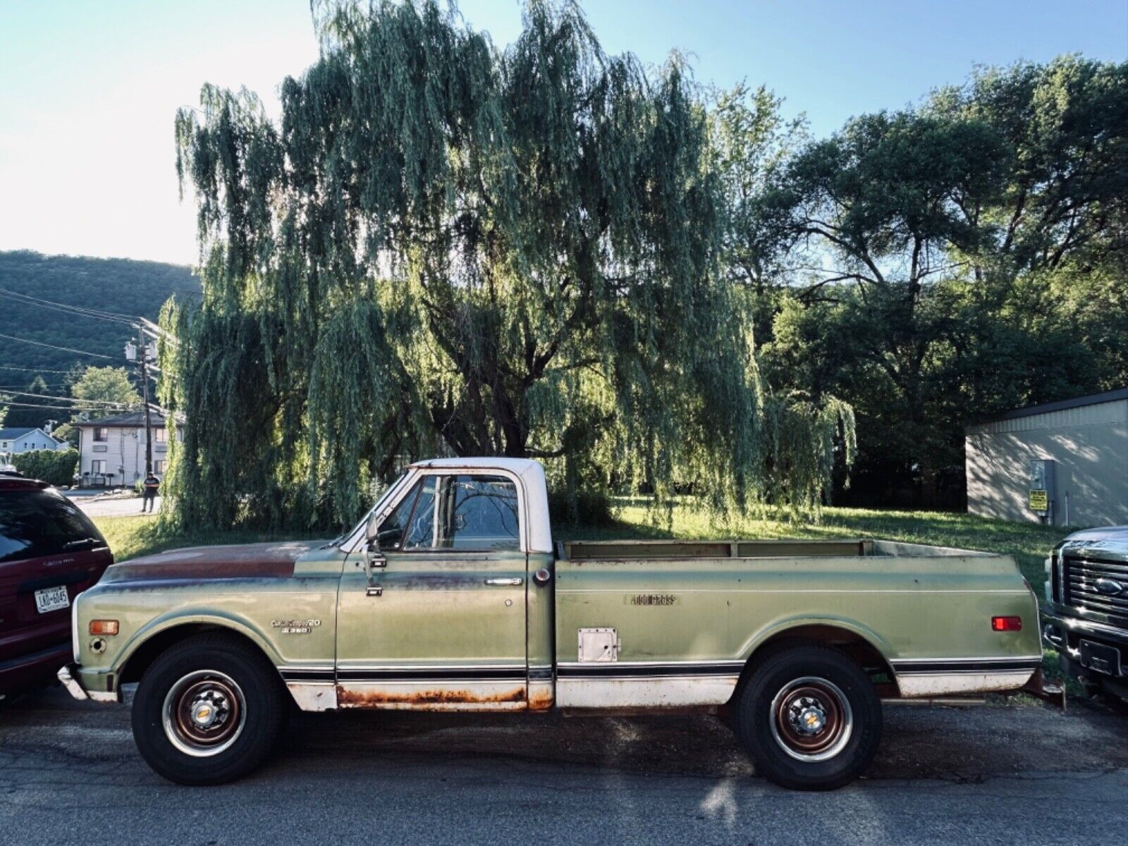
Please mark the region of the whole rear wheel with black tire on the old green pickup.
POLYGON ((792 790, 856 778, 881 742, 881 699, 854 661, 817 645, 766 658, 733 703, 733 728, 756 770, 792 790))

